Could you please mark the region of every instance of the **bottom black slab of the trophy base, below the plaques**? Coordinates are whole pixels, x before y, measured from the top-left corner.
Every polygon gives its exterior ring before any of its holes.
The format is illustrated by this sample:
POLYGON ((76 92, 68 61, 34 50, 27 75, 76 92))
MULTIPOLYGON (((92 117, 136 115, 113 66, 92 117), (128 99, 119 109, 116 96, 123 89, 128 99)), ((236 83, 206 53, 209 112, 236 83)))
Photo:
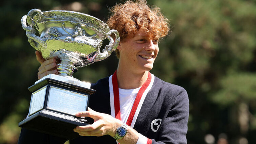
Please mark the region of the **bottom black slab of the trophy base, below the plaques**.
POLYGON ((76 126, 89 124, 91 123, 84 118, 41 110, 19 122, 19 127, 61 138, 74 139, 79 135, 74 132, 73 129, 76 128, 76 126))

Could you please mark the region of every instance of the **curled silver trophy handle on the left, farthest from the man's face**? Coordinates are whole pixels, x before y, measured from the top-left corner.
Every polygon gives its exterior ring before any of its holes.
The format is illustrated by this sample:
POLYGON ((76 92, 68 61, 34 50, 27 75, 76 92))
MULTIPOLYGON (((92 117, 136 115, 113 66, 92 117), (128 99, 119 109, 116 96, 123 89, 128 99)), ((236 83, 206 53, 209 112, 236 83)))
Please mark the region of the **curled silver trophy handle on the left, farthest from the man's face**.
POLYGON ((32 47, 34 47, 36 50, 40 51, 40 47, 46 48, 46 41, 43 38, 40 38, 36 35, 36 30, 34 29, 34 26, 37 24, 37 22, 34 22, 32 20, 32 14, 38 13, 40 20, 43 17, 42 11, 39 9, 31 9, 27 16, 23 16, 21 18, 21 25, 24 30, 26 30, 26 35, 28 37, 28 42, 32 47), (26 20, 29 26, 26 24, 26 20))

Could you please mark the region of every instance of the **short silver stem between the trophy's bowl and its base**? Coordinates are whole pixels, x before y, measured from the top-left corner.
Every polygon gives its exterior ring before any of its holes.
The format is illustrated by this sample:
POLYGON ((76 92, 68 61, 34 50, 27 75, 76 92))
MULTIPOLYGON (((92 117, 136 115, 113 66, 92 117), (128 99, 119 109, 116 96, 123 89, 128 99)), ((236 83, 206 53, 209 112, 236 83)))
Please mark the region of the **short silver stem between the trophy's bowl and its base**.
POLYGON ((62 76, 71 76, 73 73, 77 72, 77 67, 74 66, 74 63, 68 59, 61 59, 61 63, 57 64, 57 69, 59 75, 62 76))

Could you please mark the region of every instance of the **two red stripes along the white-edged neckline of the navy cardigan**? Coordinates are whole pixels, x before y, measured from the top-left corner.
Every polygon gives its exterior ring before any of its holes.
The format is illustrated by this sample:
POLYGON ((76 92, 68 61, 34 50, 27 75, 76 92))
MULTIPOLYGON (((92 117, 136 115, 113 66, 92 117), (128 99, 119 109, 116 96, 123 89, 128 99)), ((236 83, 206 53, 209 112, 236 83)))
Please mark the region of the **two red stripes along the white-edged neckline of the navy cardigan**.
MULTIPOLYGON (((126 122, 127 125, 131 126, 134 114, 137 110, 138 104, 140 103, 141 97, 147 87, 149 86, 151 81, 151 73, 148 72, 148 78, 146 82, 142 85, 140 90, 138 91, 138 94, 135 98, 135 101, 133 103, 130 115, 128 117, 128 120, 126 122)), ((115 118, 121 120, 121 114, 120 114, 120 101, 119 101, 119 89, 118 89, 118 82, 117 82, 117 76, 116 76, 116 71, 114 72, 112 76, 112 83, 113 83, 113 93, 114 93, 114 107, 115 107, 115 118)))

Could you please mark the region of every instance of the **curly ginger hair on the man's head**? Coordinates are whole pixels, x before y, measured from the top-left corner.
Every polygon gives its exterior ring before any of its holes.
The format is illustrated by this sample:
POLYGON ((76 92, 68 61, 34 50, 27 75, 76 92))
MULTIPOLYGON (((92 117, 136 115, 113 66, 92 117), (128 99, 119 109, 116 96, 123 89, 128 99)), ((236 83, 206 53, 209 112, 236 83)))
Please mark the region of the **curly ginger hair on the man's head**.
MULTIPOLYGON (((113 15, 108 19, 107 25, 119 32, 121 41, 126 37, 133 37, 140 29, 152 39, 163 38, 168 34, 168 19, 162 15, 160 8, 150 8, 146 0, 117 4, 111 12, 113 15)), ((116 56, 119 58, 118 49, 116 56)))

